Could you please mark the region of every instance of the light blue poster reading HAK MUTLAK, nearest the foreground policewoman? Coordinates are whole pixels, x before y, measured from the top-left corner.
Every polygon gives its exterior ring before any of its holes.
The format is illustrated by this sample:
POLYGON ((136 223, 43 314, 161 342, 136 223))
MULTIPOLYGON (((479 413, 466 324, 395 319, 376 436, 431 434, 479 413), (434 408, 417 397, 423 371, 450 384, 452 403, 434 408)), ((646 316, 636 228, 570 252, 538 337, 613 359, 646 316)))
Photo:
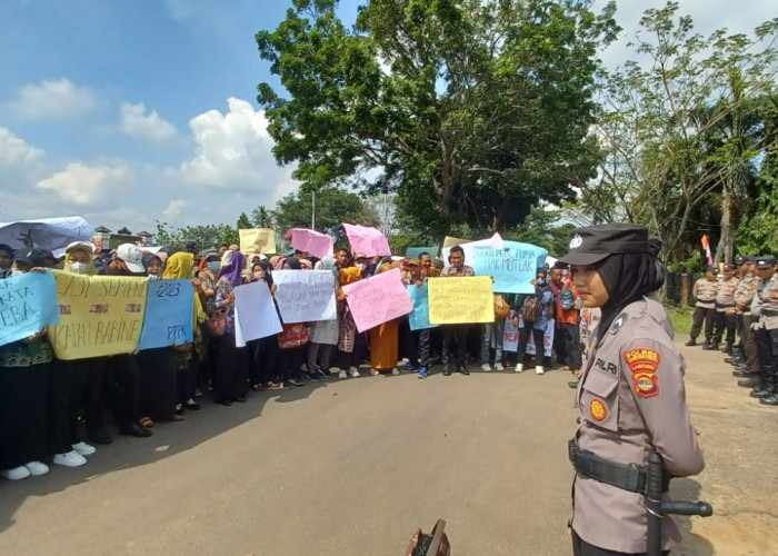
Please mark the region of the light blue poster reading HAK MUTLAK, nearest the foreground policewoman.
POLYGON ((477 246, 472 256, 476 276, 491 276, 495 279, 496 292, 532 294, 535 286, 531 280, 546 261, 548 251, 529 244, 502 241, 501 249, 477 246))

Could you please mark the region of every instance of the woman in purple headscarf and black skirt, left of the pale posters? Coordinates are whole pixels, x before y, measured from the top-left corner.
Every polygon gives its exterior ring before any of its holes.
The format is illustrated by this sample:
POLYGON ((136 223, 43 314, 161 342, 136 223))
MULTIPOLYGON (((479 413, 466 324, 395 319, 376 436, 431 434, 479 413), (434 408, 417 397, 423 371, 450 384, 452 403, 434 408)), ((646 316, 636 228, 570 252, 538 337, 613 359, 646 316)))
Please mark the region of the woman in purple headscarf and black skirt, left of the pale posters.
POLYGON ((213 373, 213 401, 231 406, 246 401, 248 391, 248 349, 237 347, 235 338, 235 288, 242 284, 243 255, 225 251, 216 282, 216 307, 225 312, 225 334, 217 340, 219 356, 213 373))

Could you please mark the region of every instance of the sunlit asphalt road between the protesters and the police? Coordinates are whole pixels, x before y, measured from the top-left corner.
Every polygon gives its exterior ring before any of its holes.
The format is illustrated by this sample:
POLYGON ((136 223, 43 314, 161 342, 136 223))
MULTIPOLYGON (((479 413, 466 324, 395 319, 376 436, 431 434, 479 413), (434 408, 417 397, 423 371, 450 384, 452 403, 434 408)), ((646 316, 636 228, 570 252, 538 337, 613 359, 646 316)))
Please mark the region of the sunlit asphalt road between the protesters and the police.
MULTIPOLYGON (((716 507, 675 554, 778 554, 778 410, 720 354, 682 348, 716 507)), ((328 379, 205 403, 74 469, 0 483, 0 554, 402 555, 447 520, 455 555, 563 555, 569 373, 328 379)))

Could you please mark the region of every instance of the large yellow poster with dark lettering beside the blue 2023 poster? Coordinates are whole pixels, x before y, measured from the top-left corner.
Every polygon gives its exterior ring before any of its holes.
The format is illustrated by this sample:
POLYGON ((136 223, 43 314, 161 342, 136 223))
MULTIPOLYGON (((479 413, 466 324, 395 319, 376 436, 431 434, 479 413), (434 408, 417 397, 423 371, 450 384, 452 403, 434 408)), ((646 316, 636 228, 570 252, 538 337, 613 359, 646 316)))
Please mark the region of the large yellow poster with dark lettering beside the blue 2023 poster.
POLYGON ((53 270, 60 324, 49 327, 64 360, 131 354, 146 311, 147 278, 80 276, 53 270))

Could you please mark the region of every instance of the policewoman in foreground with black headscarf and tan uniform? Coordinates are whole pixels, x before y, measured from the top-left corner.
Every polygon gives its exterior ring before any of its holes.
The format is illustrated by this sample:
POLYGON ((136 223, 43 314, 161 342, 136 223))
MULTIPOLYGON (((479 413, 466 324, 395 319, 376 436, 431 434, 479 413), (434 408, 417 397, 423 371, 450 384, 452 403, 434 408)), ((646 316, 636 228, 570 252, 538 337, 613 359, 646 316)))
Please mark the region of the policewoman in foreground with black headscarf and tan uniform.
MULTIPOLYGON (((668 476, 705 466, 686 406, 684 359, 661 304, 650 296, 664 276, 641 226, 575 229, 560 260, 570 265, 584 307, 601 310, 576 395, 573 554, 645 554, 648 454, 661 456, 668 476)), ((665 518, 662 549, 679 538, 665 518)))

